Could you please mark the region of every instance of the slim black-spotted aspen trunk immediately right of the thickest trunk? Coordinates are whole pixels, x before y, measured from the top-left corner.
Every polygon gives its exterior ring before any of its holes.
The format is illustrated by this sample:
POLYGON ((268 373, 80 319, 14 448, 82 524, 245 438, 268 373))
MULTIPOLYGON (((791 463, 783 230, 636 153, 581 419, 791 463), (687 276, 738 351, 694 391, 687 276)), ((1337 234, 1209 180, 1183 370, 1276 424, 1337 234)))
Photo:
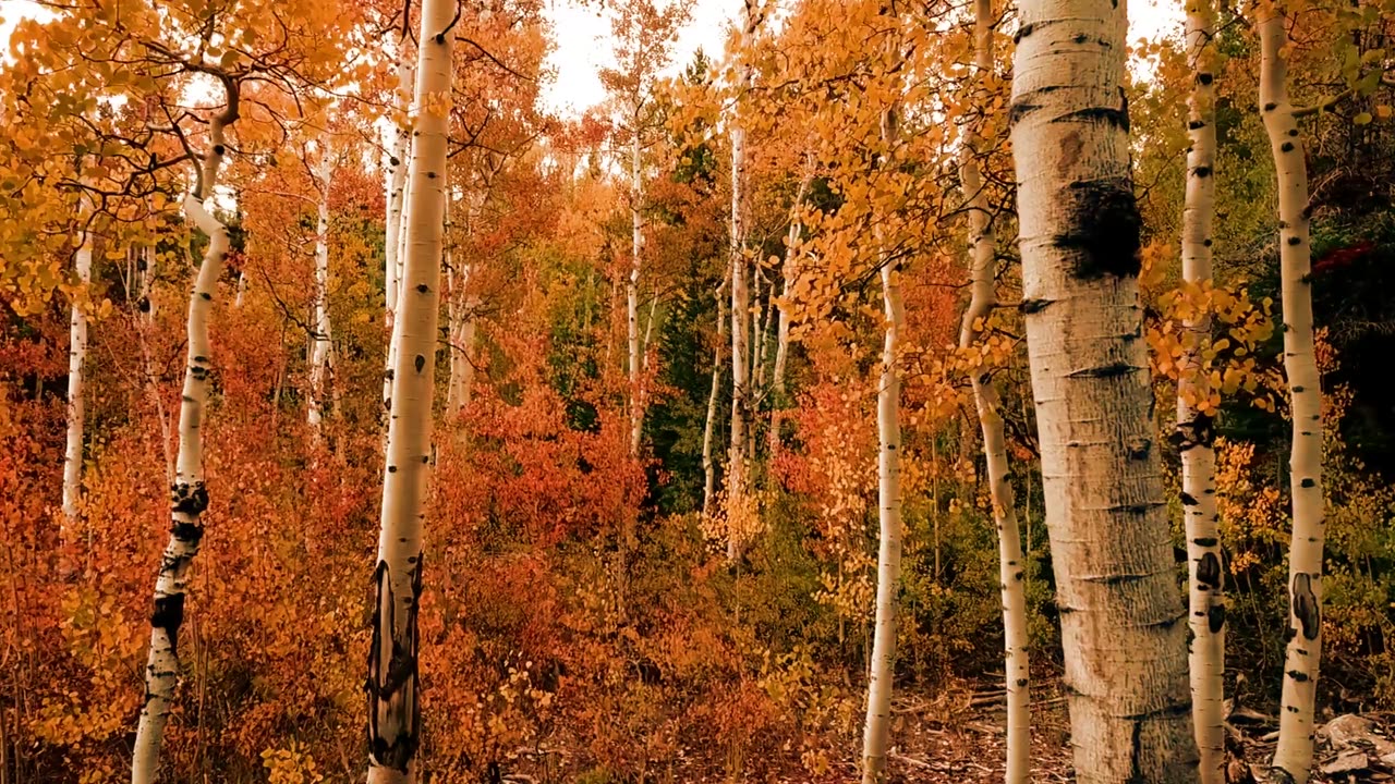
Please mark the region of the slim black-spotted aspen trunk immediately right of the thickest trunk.
MULTIPOLYGON (((1187 59, 1194 78, 1187 105, 1187 190, 1182 215, 1182 279, 1211 282, 1211 225, 1215 219, 1215 8, 1212 0, 1187 0, 1187 59)), ((1183 319, 1177 427, 1182 453, 1182 505, 1187 538, 1187 622, 1191 721, 1201 755, 1201 784, 1225 784, 1225 571, 1216 527, 1215 430, 1200 407, 1209 393, 1201 346, 1211 332, 1205 314, 1183 319)))

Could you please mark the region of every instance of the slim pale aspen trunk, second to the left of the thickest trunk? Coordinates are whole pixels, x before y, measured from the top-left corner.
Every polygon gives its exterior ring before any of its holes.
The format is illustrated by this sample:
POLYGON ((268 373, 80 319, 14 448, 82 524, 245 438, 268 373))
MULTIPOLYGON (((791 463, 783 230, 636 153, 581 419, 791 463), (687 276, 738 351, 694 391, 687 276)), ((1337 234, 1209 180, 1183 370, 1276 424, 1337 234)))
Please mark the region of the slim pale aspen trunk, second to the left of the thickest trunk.
MULTIPOLYGON (((889 148, 897 138, 896 109, 882 116, 882 140, 889 148)), ((880 241, 880 239, 879 239, 880 241)), ((877 449, 877 547, 876 631, 868 679, 868 717, 862 732, 862 783, 877 784, 886 771, 891 721, 891 686, 896 677, 896 598, 901 591, 901 378, 897 375, 900 332, 905 324, 901 306, 901 264, 882 259, 882 306, 886 335, 882 343, 882 378, 876 395, 877 449)))

